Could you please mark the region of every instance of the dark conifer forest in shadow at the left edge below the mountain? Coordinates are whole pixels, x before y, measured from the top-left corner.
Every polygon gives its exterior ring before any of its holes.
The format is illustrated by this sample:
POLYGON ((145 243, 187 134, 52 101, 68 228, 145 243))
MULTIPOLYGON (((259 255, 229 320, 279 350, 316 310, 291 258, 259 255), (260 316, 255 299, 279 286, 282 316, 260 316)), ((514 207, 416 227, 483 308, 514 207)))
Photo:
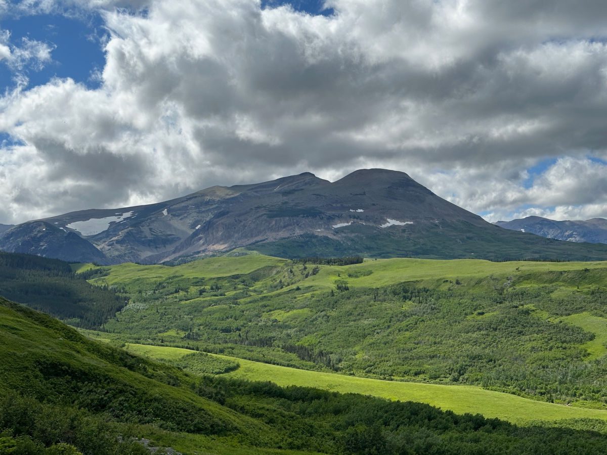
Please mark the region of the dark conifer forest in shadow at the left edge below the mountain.
POLYGON ((0 253, 0 295, 77 327, 100 328, 124 306, 112 289, 87 283, 100 273, 75 274, 64 261, 0 253))

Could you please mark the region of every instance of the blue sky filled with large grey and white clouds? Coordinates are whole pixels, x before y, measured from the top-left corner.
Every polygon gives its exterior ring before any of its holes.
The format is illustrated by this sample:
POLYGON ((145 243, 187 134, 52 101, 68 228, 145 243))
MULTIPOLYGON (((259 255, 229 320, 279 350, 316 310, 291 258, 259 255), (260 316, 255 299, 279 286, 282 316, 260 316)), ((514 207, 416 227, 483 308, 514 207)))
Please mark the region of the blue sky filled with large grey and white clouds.
POLYGON ((607 217, 607 2, 0 0, 0 223, 369 167, 607 217))

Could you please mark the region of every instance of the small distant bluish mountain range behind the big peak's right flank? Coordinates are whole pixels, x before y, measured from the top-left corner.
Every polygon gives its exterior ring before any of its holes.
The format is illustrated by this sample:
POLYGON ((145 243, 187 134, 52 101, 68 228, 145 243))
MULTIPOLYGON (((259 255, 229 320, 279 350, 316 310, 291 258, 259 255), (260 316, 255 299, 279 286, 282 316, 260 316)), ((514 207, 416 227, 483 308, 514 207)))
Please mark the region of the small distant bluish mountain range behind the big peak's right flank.
POLYGON ((495 224, 512 231, 531 232, 556 240, 607 243, 607 220, 604 218, 555 221, 542 217, 527 217, 512 221, 497 221, 495 224))

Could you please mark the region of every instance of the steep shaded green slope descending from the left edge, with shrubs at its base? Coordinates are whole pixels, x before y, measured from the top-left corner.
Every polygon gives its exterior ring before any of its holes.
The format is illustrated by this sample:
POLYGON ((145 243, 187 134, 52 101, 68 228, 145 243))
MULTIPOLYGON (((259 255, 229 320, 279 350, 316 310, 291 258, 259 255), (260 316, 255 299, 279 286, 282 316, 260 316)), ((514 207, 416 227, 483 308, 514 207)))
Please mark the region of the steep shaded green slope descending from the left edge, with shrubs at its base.
MULTIPOLYGON (((142 437, 185 453, 299 453, 246 447, 277 445, 283 436, 198 396, 193 384, 177 368, 87 339, 0 297, 0 454, 13 453, 15 443, 16 454, 28 455, 56 443, 84 454, 149 454, 131 442, 142 437)), ((77 453, 56 450, 48 453, 77 453)))

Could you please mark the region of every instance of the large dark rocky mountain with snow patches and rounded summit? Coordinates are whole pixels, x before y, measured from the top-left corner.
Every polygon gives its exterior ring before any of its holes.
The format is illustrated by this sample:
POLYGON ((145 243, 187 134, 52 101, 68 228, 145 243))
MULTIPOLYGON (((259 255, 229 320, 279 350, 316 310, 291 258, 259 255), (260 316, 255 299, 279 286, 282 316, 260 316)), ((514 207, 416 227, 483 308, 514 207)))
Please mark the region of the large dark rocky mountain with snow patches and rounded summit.
POLYGON ((607 259, 607 246, 501 229, 385 169, 333 183, 305 172, 214 186, 157 204, 30 221, 0 235, 4 251, 101 264, 183 261, 240 247, 281 257, 607 259))

